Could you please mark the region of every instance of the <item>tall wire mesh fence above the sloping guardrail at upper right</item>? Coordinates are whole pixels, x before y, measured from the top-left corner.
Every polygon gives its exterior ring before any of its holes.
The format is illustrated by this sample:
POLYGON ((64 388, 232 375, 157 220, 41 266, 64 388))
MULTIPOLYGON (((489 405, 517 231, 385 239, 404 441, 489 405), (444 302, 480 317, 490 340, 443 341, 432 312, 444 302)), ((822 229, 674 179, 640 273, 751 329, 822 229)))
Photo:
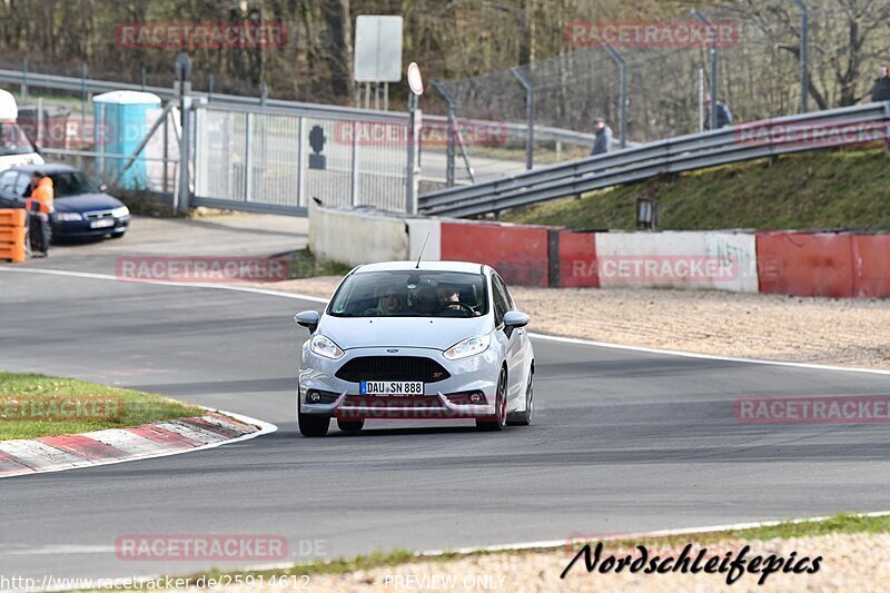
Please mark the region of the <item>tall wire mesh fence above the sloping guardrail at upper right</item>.
MULTIPOLYGON (((701 131, 709 93, 734 121, 799 112, 802 96, 807 110, 868 101, 890 47, 890 1, 735 0, 671 21, 573 21, 565 33, 563 55, 521 67, 534 122, 590 132, 599 116, 619 136, 623 101, 626 140, 642 142, 701 131)), ((459 117, 525 119, 510 69, 442 85, 459 117)))

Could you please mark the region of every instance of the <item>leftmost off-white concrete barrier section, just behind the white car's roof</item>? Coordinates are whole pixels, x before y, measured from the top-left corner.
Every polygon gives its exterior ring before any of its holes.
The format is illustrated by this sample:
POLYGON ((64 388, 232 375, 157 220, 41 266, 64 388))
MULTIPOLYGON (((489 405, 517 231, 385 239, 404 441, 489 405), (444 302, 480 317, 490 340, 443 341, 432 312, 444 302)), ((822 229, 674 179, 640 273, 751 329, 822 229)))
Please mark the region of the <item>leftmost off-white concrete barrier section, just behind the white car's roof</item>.
POLYGON ((408 259, 404 218, 376 213, 309 207, 309 248, 318 259, 349 266, 408 259))

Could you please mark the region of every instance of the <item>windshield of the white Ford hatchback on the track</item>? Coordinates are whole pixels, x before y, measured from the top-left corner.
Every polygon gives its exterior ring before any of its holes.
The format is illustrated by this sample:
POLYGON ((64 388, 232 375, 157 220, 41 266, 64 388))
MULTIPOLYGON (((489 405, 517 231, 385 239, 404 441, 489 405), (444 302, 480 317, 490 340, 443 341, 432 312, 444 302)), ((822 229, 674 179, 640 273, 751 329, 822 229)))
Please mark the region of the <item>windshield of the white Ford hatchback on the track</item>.
POLYGON ((485 276, 458 271, 359 271, 330 302, 335 317, 478 317, 488 313, 485 276))

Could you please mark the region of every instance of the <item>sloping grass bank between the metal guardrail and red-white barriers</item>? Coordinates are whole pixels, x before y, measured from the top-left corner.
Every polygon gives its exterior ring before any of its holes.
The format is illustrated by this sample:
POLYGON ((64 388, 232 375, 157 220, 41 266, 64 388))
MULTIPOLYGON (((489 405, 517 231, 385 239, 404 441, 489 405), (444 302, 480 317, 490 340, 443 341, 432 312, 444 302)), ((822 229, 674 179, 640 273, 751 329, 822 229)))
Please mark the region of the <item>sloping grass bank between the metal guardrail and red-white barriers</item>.
POLYGON ((505 213, 502 220, 571 228, 636 228, 636 199, 654 198, 661 229, 890 230, 890 156, 822 150, 661 177, 505 213))

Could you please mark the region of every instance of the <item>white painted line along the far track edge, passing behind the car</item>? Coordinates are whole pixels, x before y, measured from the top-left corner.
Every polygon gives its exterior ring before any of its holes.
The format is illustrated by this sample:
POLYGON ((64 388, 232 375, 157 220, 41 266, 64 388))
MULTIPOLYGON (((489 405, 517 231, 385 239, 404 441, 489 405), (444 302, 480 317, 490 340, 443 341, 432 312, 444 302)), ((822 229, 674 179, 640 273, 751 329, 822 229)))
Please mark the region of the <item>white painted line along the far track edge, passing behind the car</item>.
MULTIPOLYGON (((12 268, 9 266, 0 266, 0 271, 17 271, 17 273, 30 273, 30 274, 47 274, 47 275, 55 275, 55 276, 71 276, 76 278, 92 278, 99 280, 113 280, 119 283, 137 283, 137 284, 157 284, 162 286, 182 286, 189 288, 215 288, 218 290, 234 290, 239 293, 253 293, 258 295, 266 295, 266 296, 276 296, 283 298, 293 298, 297 300, 309 300, 313 303, 327 303, 328 299, 320 298, 312 295, 301 295, 297 293, 283 293, 280 290, 267 290, 264 288, 251 288, 248 286, 233 286, 233 285, 219 285, 219 284, 198 284, 198 283, 172 283, 167 280, 131 280, 131 279, 120 279, 116 276, 111 276, 108 274, 90 274, 85 271, 67 271, 67 270, 57 270, 57 269, 39 269, 39 268, 12 268)), ((890 370, 884 370, 880 368, 858 368, 858 367, 847 367, 847 366, 832 366, 832 365, 819 365, 813 363, 792 363, 788 360, 764 360, 758 358, 739 358, 733 356, 719 356, 713 354, 700 354, 693 352, 684 352, 684 350, 665 350, 661 348, 647 348, 645 346, 625 346, 622 344, 612 344, 609 342, 595 342, 592 339, 584 339, 584 338, 572 338, 572 337, 563 337, 563 336, 551 336, 547 334, 535 334, 530 333, 530 337, 535 339, 546 339, 551 342, 562 342, 565 344, 576 344, 581 346, 595 346, 597 348, 612 348, 619 350, 632 350, 632 352, 642 352, 649 354, 660 354, 665 356, 682 356, 684 358, 702 358, 705 360, 725 360, 729 363, 744 363, 744 364, 754 364, 754 365, 772 365, 772 366, 788 366, 788 367, 797 367, 797 368, 809 368, 812 370, 833 370, 833 372, 848 372, 848 373, 870 373, 873 375, 890 375, 890 370)))

